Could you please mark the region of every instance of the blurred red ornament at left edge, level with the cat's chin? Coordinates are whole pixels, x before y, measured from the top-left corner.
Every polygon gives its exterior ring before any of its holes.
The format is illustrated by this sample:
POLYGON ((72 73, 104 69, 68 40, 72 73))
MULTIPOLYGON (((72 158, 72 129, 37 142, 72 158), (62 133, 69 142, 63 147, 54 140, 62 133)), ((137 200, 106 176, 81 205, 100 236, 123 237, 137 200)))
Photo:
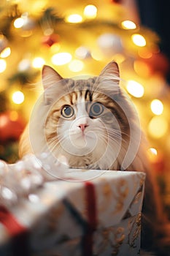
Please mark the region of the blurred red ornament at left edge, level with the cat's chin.
POLYGON ((7 111, 0 114, 0 141, 18 140, 26 122, 16 111, 7 111))

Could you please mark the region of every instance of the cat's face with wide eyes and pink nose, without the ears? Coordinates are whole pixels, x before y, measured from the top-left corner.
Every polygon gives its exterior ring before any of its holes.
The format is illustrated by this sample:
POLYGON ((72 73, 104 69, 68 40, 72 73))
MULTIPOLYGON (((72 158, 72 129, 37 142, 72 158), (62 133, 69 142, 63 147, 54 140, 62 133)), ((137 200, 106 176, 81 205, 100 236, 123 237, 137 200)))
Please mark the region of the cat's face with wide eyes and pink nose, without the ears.
MULTIPOLYGON (((74 87, 76 90, 79 86, 74 87)), ((115 130, 115 136, 119 132, 121 138, 119 124, 112 113, 114 107, 109 97, 97 91, 86 89, 66 94, 55 102, 47 117, 47 142, 53 144, 54 149, 59 143, 64 151, 76 156, 94 153, 97 148, 106 150, 109 130, 112 134, 115 130)))

